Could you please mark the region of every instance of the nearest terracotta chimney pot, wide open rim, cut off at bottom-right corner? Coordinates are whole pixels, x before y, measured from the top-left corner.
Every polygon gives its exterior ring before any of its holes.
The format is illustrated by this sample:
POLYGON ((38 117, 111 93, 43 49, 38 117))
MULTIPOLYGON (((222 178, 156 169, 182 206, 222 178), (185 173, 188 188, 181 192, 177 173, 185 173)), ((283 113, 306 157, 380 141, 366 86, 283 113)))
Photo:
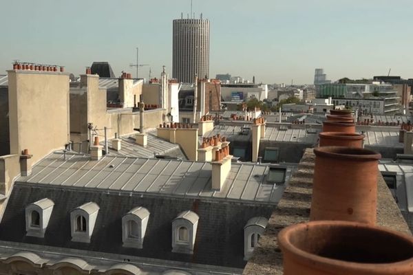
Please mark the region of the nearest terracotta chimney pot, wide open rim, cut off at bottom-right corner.
POLYGON ((413 238, 348 221, 311 221, 278 234, 284 275, 413 274, 413 238))

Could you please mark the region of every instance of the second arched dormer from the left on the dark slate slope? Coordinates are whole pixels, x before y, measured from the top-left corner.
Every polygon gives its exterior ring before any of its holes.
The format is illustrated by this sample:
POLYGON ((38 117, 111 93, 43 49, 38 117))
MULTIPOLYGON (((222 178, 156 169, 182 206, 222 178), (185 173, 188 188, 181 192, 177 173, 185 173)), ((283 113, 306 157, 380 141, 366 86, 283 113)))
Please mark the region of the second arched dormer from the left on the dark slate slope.
POLYGON ((88 202, 70 212, 72 241, 90 243, 98 211, 99 206, 96 203, 88 202))

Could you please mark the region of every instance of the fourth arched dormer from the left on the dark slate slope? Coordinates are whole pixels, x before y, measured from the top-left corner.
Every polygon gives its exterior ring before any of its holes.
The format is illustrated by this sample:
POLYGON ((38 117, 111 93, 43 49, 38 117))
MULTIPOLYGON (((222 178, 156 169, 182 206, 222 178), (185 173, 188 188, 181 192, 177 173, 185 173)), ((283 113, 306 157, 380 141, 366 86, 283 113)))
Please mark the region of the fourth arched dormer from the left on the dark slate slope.
POLYGON ((199 219, 198 214, 188 210, 172 221, 172 252, 193 254, 199 219))

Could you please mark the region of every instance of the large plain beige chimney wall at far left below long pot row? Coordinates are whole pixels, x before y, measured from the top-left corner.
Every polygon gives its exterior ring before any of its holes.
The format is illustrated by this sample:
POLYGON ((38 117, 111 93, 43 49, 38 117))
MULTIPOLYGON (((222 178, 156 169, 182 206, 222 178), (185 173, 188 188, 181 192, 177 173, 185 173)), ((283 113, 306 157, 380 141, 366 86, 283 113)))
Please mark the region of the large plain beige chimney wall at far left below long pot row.
POLYGON ((28 148, 36 162, 69 141, 69 76, 8 71, 10 153, 28 148))

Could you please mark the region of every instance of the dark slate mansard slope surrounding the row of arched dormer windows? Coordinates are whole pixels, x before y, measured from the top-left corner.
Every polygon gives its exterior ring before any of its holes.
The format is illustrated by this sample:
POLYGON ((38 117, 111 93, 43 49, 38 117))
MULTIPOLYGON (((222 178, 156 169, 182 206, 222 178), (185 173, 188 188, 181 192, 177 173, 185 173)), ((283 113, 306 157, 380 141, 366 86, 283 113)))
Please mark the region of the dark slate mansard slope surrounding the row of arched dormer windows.
POLYGON ((0 223, 0 240, 59 248, 106 252, 145 258, 243 268, 244 226, 253 217, 271 216, 275 206, 230 201, 204 201, 193 197, 151 197, 142 194, 108 193, 87 188, 63 188, 53 184, 17 182, 0 223), (43 198, 55 202, 44 238, 25 236, 25 206, 43 198), (93 201, 100 210, 90 243, 71 241, 70 211, 93 201), (150 217, 141 250, 123 248, 122 217, 136 206, 150 217), (200 219, 193 254, 171 252, 171 222, 182 211, 196 212, 200 219), (110 237, 109 237, 110 236, 110 237))

